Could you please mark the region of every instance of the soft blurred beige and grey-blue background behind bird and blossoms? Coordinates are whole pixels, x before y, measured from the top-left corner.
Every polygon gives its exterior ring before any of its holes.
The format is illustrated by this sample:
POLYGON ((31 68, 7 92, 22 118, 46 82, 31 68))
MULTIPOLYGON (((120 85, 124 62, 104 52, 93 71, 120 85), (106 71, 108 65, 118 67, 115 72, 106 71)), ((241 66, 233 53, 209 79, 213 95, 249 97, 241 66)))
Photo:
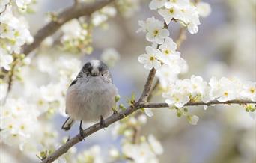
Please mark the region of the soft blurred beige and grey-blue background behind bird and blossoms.
MULTIPOLYGON (((117 85, 121 102, 135 93, 138 98, 144 86, 148 71, 138 63, 138 55, 144 53, 144 47, 150 45, 144 34, 136 33, 138 20, 155 16, 157 12, 149 10, 150 1, 139 2, 138 10, 132 16, 117 16, 109 19, 106 28, 96 28, 93 33, 94 52, 81 55, 85 62, 100 58, 106 48, 114 48, 120 54, 120 60, 111 68, 114 83, 117 85)), ((255 0, 205 0, 210 4, 211 13, 201 18, 198 34, 186 31, 186 40, 180 46, 181 56, 189 65, 189 70, 180 79, 192 74, 203 76, 209 81, 211 76, 220 78, 238 77, 242 81, 256 80, 256 1, 255 0)), ((42 27, 46 12, 60 10, 73 4, 70 0, 38 1, 36 13, 29 15, 28 23, 32 34, 42 27)), ((169 31, 176 40, 180 25, 171 22, 169 31)), ((54 55, 56 50, 43 51, 54 55)), ((79 65, 81 66, 81 65, 79 65)), ((153 102, 163 102, 161 96, 153 97, 153 102)), ((256 162, 256 120, 239 105, 216 105, 207 108, 201 106, 189 108, 200 119, 198 125, 190 125, 186 117, 177 117, 175 111, 167 108, 153 110, 154 116, 148 117, 142 126, 143 135, 153 134, 162 144, 164 153, 159 162, 166 163, 255 163, 256 162)), ((76 135, 76 124, 71 132, 61 131, 65 117, 56 114, 52 119, 58 138, 76 135)), ((85 124, 87 126, 87 124, 85 124)), ((118 147, 121 138, 112 137, 115 125, 96 132, 77 144, 77 150, 84 150, 94 144, 107 149, 118 147)), ((120 148, 120 147, 118 147, 120 148)))

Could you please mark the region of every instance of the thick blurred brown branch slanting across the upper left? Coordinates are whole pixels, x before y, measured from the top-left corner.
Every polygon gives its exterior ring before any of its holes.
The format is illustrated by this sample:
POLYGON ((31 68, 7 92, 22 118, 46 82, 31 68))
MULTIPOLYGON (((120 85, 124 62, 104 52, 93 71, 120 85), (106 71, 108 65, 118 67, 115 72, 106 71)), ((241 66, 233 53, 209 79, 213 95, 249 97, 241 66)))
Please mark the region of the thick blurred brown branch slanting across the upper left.
POLYGON ((61 13, 58 13, 56 21, 49 22, 43 26, 43 28, 40 28, 40 30, 37 31, 37 34, 34 35, 34 42, 29 45, 25 45, 23 48, 23 53, 28 55, 30 52, 40 46, 40 43, 42 43, 46 37, 54 34, 55 31, 57 31, 61 25, 64 25, 65 22, 68 22, 74 18, 79 18, 80 16, 89 16, 91 13, 100 10, 112 1, 114 0, 100 0, 92 3, 83 2, 79 3, 79 5, 67 7, 61 13))

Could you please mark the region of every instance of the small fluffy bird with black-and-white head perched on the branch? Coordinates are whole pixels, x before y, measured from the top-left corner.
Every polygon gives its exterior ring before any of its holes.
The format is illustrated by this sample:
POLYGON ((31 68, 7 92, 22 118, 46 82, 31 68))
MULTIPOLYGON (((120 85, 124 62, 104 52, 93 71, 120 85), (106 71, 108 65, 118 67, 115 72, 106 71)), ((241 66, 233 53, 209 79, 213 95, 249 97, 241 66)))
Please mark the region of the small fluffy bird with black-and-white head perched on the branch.
POLYGON ((79 133, 83 138, 82 122, 100 119, 100 125, 107 127, 103 117, 115 114, 117 95, 118 89, 107 65, 100 60, 88 61, 67 89, 66 114, 69 117, 61 129, 70 130, 76 120, 80 120, 79 133))

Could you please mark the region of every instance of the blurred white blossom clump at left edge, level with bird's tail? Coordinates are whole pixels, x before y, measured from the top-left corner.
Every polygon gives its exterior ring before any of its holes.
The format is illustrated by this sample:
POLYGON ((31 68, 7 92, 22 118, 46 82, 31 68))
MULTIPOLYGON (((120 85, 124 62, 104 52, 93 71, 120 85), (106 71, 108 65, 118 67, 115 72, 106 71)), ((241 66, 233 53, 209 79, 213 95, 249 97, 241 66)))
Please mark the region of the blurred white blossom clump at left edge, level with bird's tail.
POLYGON ((34 130, 38 129, 39 112, 24 99, 9 98, 1 107, 1 141, 9 145, 15 144, 22 150, 34 130))

